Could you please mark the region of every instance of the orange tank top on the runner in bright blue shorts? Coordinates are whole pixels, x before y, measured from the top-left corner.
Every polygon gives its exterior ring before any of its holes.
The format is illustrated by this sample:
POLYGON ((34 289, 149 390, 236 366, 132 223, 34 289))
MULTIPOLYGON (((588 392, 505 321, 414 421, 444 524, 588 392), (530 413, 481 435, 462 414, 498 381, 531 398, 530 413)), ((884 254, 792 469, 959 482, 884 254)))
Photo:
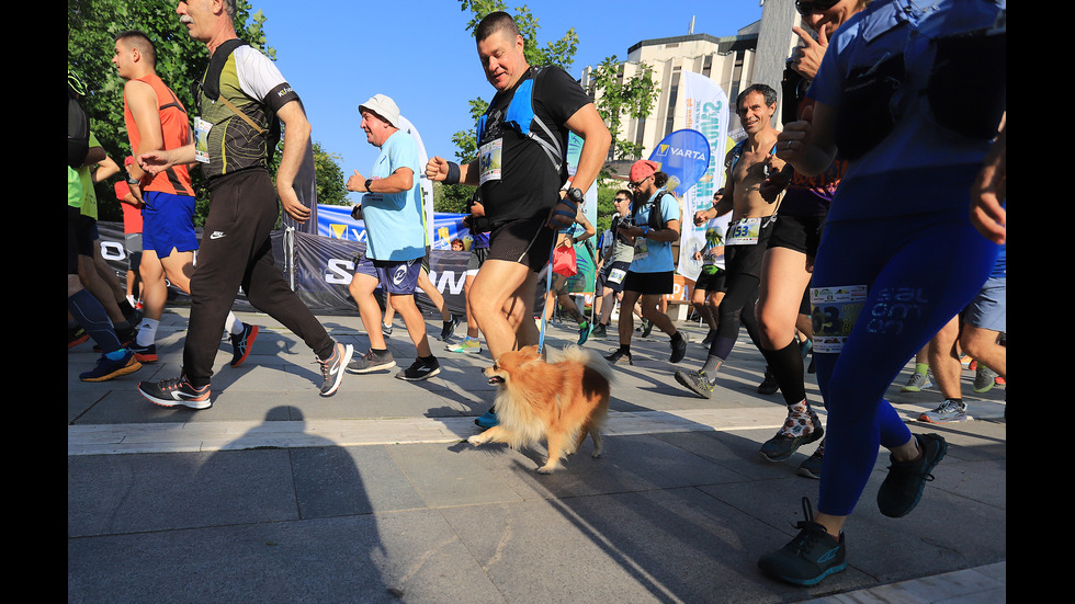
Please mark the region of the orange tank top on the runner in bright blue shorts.
MULTIPOLYGON (((186 109, 179 102, 176 93, 156 73, 138 78, 135 81, 146 82, 157 93, 157 102, 159 104, 157 112, 160 115, 160 130, 163 134, 165 149, 176 149, 188 145, 191 141, 190 118, 186 116, 186 109)), ((126 95, 124 95, 123 103, 123 119, 127 125, 131 150, 132 152, 137 152, 142 135, 138 133, 138 126, 135 124, 134 116, 131 115, 131 110, 127 107, 126 95)), ((173 195, 194 196, 194 187, 191 186, 191 174, 186 170, 185 164, 173 166, 154 176, 149 184, 145 184, 145 181, 143 181, 143 191, 161 191, 173 195)))

